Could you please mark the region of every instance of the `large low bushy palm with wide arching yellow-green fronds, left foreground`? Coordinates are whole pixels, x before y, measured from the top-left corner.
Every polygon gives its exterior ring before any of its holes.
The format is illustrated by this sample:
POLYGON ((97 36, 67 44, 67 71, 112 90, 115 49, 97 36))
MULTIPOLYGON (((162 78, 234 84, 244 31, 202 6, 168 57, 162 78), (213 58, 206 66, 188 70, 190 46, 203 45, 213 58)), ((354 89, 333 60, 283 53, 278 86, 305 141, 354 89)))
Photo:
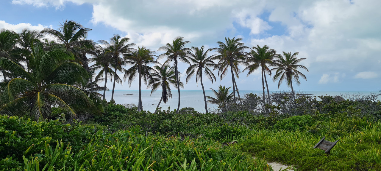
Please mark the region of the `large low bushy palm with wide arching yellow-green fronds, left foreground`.
POLYGON ((59 105, 75 115, 73 107, 104 109, 101 99, 74 84, 83 84, 88 72, 74 60, 62 45, 43 47, 32 41, 28 56, 30 72, 21 64, 0 57, 0 67, 13 78, 0 83, 0 113, 14 115, 30 110, 36 119, 46 118, 52 105, 59 105))

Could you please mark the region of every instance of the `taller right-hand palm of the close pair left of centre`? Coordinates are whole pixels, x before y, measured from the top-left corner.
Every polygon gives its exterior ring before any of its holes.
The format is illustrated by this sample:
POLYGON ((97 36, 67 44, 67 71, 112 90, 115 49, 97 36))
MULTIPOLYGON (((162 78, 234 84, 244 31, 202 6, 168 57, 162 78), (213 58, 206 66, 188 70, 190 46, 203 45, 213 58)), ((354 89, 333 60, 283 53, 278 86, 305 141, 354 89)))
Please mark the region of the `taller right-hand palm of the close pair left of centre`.
MULTIPOLYGON (((114 90, 115 90, 115 82, 120 81, 122 83, 122 80, 117 79, 117 70, 120 71, 126 71, 123 69, 124 61, 123 58, 120 56, 122 54, 127 54, 131 52, 131 46, 134 46, 134 43, 126 44, 128 41, 130 41, 130 38, 121 38, 118 34, 112 36, 110 38, 110 43, 104 40, 99 40, 98 42, 106 45, 107 50, 112 53, 112 58, 114 60, 113 67, 114 67, 114 84, 112 85, 112 94, 111 94, 111 101, 114 100, 114 90)), ((108 53, 108 52, 107 52, 108 53)))

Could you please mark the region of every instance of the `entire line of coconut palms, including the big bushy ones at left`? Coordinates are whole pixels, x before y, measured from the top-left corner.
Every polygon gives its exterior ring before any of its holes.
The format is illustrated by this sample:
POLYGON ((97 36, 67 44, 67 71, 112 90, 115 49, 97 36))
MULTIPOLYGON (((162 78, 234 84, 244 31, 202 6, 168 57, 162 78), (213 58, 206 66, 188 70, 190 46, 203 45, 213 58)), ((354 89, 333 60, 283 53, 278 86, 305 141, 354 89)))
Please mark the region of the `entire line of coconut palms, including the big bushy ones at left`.
POLYGON ((293 83, 300 84, 300 78, 306 79, 299 69, 305 69, 299 63, 306 58, 297 58, 296 53, 277 53, 267 45, 248 47, 240 38, 225 38, 216 42, 218 47, 206 49, 187 47, 189 41, 176 37, 158 51, 136 46, 131 39, 113 35, 108 41, 94 42, 87 39, 91 31, 75 21, 65 21, 54 30, 42 31, 24 29, 21 33, 11 30, 0 31, 0 113, 13 115, 22 110, 29 111, 37 119, 46 118, 53 106, 66 108, 72 115, 76 110, 86 108, 103 111, 107 81, 112 82, 111 101, 114 100, 115 84, 128 81, 131 86, 138 81, 138 111, 143 110, 142 83, 152 89, 162 90, 161 102, 171 97, 171 86, 177 89, 179 111, 181 94, 181 73, 178 64, 186 63, 186 83, 194 79, 200 82, 203 90, 205 111, 207 102, 224 106, 227 103, 242 104, 237 79, 243 71, 247 76, 260 69, 262 77, 263 102, 271 104, 267 77, 278 82, 283 81, 291 88, 295 99, 293 83), (46 35, 53 40, 45 39, 46 35), (215 54, 215 55, 211 55, 215 54), (163 63, 159 63, 164 59, 163 63), (240 70, 243 66, 243 71, 240 70), (222 80, 231 74, 232 86, 220 86, 212 89, 216 98, 205 95, 205 78, 216 82, 216 75, 222 80), (272 72, 275 71, 274 76, 272 72), (119 73, 124 73, 120 78, 119 73), (136 79, 137 78, 137 79, 136 79), (104 82, 102 84, 102 82, 104 82), (99 85, 102 84, 102 85, 99 85), (232 92, 229 89, 232 88, 232 92), (267 90, 267 96, 265 93, 267 90), (209 100, 207 100, 207 98, 209 100))

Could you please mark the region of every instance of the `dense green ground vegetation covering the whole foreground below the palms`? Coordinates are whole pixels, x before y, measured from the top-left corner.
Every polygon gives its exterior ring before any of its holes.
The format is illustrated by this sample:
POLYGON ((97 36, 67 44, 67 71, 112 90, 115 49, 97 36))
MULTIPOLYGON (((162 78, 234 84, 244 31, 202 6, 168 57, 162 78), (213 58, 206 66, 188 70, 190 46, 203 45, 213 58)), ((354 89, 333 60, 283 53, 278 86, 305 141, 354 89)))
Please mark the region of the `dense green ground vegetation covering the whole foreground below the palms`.
POLYGON ((104 115, 86 124, 67 124, 59 108, 53 109, 56 120, 45 122, 0 116, 0 170, 271 169, 265 161, 306 171, 381 169, 381 103, 320 99, 299 96, 293 108, 270 107, 269 115, 192 108, 154 114, 109 103, 104 115), (313 148, 322 136, 339 140, 330 155, 313 148))

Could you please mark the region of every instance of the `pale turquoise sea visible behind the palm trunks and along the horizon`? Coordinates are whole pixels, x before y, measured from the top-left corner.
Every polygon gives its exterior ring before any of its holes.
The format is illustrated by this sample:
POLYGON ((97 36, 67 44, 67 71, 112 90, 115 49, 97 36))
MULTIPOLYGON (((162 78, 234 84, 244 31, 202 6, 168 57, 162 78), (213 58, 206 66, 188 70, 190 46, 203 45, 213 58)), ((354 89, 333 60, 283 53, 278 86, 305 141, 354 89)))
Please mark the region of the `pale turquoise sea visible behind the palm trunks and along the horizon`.
MULTIPOLYGON (((270 91, 270 93, 276 93, 279 91, 270 91)), ((100 92, 103 93, 103 92, 100 92)), ((111 100, 112 91, 106 91, 106 100, 111 100)), ((261 95, 262 91, 252 91, 252 90, 240 90, 240 96, 243 97, 244 94, 253 93, 257 95, 261 95)), ((311 94, 311 96, 343 96, 343 95, 354 95, 360 94, 362 96, 366 96, 371 94, 371 91, 303 91, 298 92, 302 94, 311 94)), ((373 93, 380 94, 380 92, 375 91, 373 93)), ((151 95, 151 90, 141 90, 142 95, 142 105, 143 110, 154 112, 157 104, 162 96, 162 91, 157 90, 151 95)), ((215 97, 211 90, 205 91, 206 96, 215 97)), ((205 103, 202 90, 180 90, 180 109, 183 107, 193 107, 196 111, 200 113, 205 113, 205 103)), ((138 105, 139 99, 139 91, 138 90, 115 90, 114 92, 115 103, 125 105, 125 104, 134 104, 138 105), (133 95, 124 95, 124 94, 133 94, 133 95)), ((161 103, 160 107, 162 110, 175 110, 178 105, 178 91, 172 90, 172 98, 168 100, 168 102, 161 103)), ((216 110, 217 106, 214 104, 207 103, 208 109, 216 110)))

